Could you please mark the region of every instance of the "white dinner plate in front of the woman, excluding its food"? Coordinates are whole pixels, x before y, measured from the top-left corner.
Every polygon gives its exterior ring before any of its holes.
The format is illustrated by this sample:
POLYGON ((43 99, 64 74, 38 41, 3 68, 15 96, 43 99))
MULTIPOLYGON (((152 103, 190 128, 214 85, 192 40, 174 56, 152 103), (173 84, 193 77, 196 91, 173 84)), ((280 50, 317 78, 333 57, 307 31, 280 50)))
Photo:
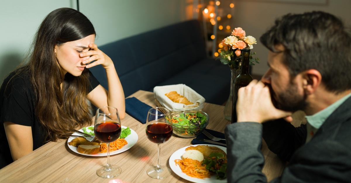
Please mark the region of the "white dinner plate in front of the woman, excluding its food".
MULTIPOLYGON (((86 127, 88 128, 88 127, 86 127)), ((121 126, 121 128, 127 128, 126 126, 121 126)), ((130 129, 130 128, 129 128, 130 129)), ((79 131, 83 132, 83 129, 80 129, 79 131)), ((88 131, 88 129, 87 129, 88 131)), ((78 134, 78 133, 73 133, 72 135, 81 135, 81 134, 78 134)), ((68 141, 67 141, 67 145, 68 145, 68 142, 71 142, 71 140, 75 139, 77 137, 74 137, 74 136, 71 136, 69 137, 68 141)), ((118 150, 115 150, 115 151, 112 151, 110 152, 110 155, 114 155, 114 154, 118 154, 118 153, 122 153, 122 152, 125 152, 126 150, 130 149, 131 147, 133 147, 135 145, 135 143, 137 143, 138 141, 138 134, 135 133, 134 130, 131 129, 131 134, 128 135, 125 140, 128 142, 128 144, 126 144, 125 146, 123 146, 122 148, 118 149, 118 150)), ((71 149, 73 152, 75 153, 78 153, 78 154, 81 154, 81 155, 86 155, 86 156, 107 156, 107 153, 98 153, 98 154, 82 154, 82 153, 79 153, 77 151, 77 147, 74 147, 74 146, 71 146, 71 145, 68 145, 69 149, 71 149)))

